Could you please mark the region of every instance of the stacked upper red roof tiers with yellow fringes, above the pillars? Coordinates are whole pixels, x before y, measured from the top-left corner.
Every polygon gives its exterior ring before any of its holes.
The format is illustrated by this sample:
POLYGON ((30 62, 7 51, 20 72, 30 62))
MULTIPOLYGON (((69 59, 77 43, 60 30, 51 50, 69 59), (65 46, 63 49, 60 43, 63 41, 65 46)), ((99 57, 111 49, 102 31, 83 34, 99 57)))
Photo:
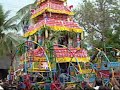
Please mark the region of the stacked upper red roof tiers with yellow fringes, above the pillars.
POLYGON ((24 37, 35 34, 44 27, 54 31, 70 31, 82 33, 82 28, 74 22, 72 6, 64 5, 66 0, 38 0, 37 9, 32 10, 31 19, 34 25, 29 26, 24 37))

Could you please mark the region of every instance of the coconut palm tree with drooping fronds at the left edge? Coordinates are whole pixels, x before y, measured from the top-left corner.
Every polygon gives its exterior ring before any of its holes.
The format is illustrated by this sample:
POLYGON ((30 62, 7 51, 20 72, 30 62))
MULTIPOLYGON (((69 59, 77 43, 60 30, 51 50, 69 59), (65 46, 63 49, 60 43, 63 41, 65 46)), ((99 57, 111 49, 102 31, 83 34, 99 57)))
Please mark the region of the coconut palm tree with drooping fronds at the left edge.
POLYGON ((10 11, 3 12, 0 5, 0 57, 9 57, 11 60, 10 66, 12 66, 15 54, 16 46, 23 42, 22 37, 14 33, 17 31, 17 16, 8 19, 10 11))

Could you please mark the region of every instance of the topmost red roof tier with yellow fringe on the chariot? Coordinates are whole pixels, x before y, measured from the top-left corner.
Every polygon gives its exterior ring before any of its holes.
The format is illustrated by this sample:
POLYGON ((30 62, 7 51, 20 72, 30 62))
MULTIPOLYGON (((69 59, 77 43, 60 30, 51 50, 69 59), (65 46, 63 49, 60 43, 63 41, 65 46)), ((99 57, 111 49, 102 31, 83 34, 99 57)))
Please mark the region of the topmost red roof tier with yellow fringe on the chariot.
POLYGON ((39 1, 38 9, 33 13, 32 18, 43 14, 44 12, 52 12, 58 14, 74 15, 67 6, 64 6, 62 0, 43 0, 39 1))

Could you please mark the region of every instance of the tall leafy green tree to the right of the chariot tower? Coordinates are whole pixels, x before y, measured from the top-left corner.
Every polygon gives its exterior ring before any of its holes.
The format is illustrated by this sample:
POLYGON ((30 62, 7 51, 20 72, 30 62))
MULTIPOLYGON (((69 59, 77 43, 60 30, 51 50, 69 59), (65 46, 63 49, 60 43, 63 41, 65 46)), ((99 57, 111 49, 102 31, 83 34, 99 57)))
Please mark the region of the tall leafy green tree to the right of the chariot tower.
POLYGON ((85 30, 88 47, 120 48, 119 0, 84 0, 74 11, 75 20, 85 30))

